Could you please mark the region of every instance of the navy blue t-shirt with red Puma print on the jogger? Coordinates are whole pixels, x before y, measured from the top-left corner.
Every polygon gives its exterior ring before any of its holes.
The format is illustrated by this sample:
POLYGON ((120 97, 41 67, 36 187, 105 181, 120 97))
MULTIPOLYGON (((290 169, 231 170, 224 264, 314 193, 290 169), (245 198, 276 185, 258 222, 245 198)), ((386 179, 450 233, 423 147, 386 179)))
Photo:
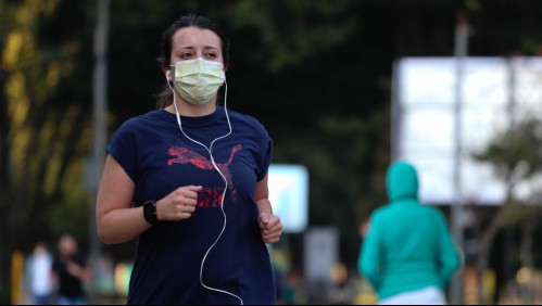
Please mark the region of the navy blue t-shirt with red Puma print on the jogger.
MULTIPOLYGON (((182 186, 203 187, 190 218, 161 222, 139 235, 128 304, 240 304, 230 294, 244 304, 275 304, 269 254, 253 200, 272 160, 272 139, 255 118, 232 111, 228 115, 232 131, 212 148, 227 184, 207 149, 182 135, 176 115, 165 110, 130 118, 112 136, 106 150, 134 180, 136 206, 182 186)), ((229 131, 224 107, 207 116, 181 116, 181 126, 207 148, 229 131)))

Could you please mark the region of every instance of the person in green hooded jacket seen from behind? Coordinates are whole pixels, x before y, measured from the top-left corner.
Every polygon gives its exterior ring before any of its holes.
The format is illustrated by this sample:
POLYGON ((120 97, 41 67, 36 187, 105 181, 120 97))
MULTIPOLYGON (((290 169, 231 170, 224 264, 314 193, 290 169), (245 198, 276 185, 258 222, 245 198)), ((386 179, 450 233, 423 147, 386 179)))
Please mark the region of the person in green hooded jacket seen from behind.
POLYGON ((415 167, 396 161, 387 173, 390 203, 370 215, 358 269, 380 305, 445 305, 444 290, 462 267, 443 214, 418 200, 415 167))

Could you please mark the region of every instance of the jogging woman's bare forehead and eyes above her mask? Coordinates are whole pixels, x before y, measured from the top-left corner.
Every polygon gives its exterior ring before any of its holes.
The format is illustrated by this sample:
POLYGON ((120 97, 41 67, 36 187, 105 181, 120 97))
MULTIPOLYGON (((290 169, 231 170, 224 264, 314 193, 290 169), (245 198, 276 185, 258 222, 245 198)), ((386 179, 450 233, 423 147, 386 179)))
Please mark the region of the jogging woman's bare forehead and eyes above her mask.
POLYGON ((224 63, 220 38, 210 29, 184 27, 172 39, 172 65, 178 61, 203 60, 224 63))

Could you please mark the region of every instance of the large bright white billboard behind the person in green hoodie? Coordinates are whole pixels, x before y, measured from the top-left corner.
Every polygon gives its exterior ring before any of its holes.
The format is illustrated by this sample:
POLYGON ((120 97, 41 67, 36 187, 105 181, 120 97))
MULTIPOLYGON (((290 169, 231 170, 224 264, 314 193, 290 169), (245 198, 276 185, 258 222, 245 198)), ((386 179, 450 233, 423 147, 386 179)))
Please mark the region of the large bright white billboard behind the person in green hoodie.
POLYGON ((527 114, 540 114, 542 59, 465 58, 461 87, 457 87, 457 63, 454 58, 398 61, 393 157, 416 166, 419 196, 427 203, 451 204, 463 199, 478 204, 501 204, 504 183, 489 164, 476 162, 471 154, 483 150, 513 119, 518 122, 527 114), (462 194, 456 194, 454 184, 457 101, 461 101, 462 194))

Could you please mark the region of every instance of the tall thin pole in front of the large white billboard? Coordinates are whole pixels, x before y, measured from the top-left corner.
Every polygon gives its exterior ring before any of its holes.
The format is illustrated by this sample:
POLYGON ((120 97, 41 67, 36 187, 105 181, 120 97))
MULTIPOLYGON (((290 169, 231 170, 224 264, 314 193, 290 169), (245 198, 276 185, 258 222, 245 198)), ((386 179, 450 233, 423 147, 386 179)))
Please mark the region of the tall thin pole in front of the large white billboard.
MULTIPOLYGON (((454 189, 455 189, 455 203, 452 203, 452 232, 455 238, 456 246, 465 258, 464 252, 464 201, 463 201, 463 187, 462 187, 462 155, 463 155, 463 79, 464 79, 464 65, 465 56, 467 55, 468 46, 468 23, 467 17, 463 10, 457 12, 456 27, 455 27, 455 62, 456 62, 456 79, 455 79, 455 155, 454 155, 454 189)), ((464 260, 463 260, 464 262, 464 260)), ((451 282, 450 285, 450 302, 452 305, 463 305, 463 271, 459 271, 451 282)))

